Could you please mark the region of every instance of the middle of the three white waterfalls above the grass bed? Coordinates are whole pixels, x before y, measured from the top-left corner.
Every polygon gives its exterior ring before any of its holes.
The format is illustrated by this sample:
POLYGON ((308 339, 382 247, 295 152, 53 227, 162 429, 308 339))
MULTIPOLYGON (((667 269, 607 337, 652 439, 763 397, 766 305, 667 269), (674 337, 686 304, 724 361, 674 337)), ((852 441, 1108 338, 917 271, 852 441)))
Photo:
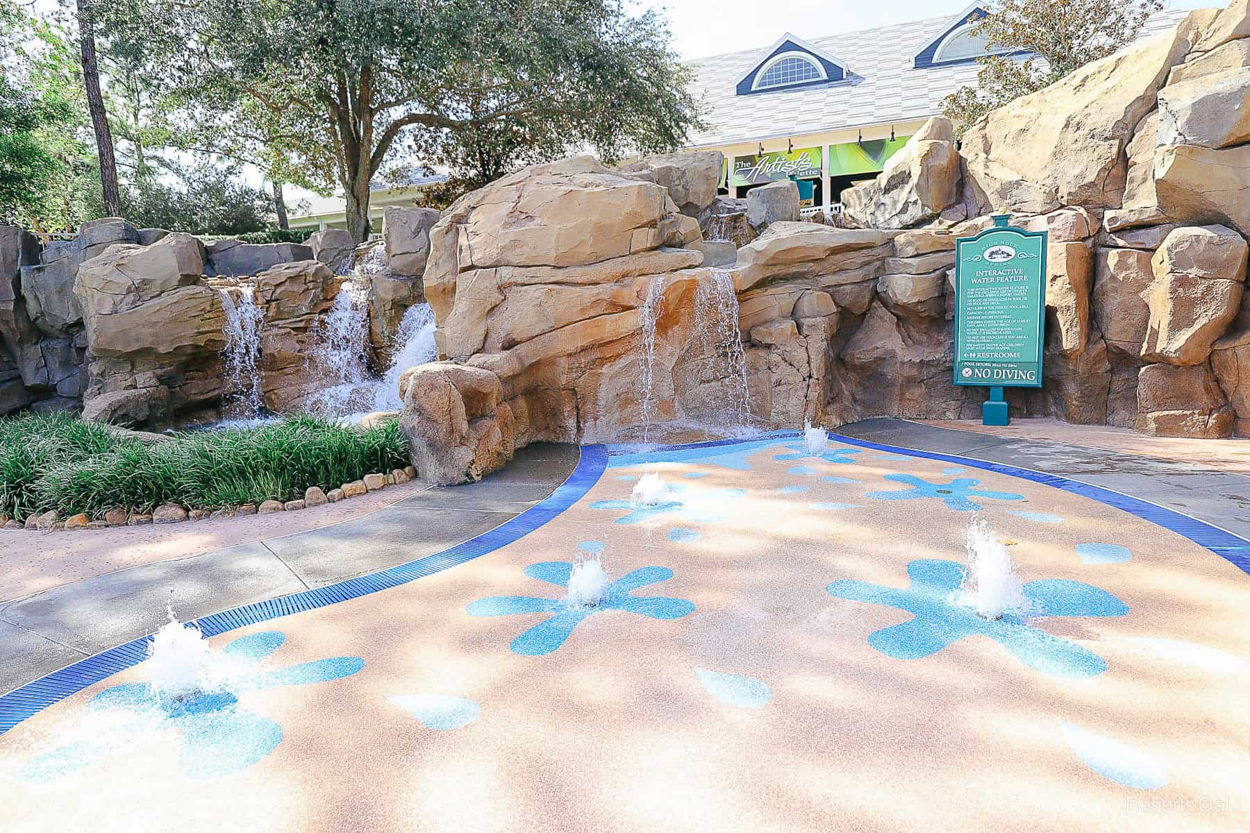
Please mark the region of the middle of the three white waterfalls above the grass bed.
POLYGON ((330 311, 312 327, 309 370, 324 385, 309 400, 309 410, 342 416, 369 405, 369 298, 362 287, 344 281, 330 311))

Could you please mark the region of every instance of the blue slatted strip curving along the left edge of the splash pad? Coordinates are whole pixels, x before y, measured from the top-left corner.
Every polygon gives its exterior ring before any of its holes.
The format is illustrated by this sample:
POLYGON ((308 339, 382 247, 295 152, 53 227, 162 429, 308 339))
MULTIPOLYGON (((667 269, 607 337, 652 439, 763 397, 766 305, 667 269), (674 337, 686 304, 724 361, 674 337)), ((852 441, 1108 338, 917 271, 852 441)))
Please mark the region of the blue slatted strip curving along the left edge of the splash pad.
MULTIPOLYGON (((365 576, 356 576, 355 578, 348 578, 334 584, 326 584, 325 587, 300 591, 290 596, 281 596, 211 613, 194 619, 194 623, 205 636, 216 636, 249 624, 276 619, 291 613, 312 611, 319 607, 368 596, 369 593, 376 593, 381 589, 406 584, 418 578, 448 569, 449 567, 472 561, 520 540, 568 510, 599 482, 606 467, 608 450, 605 446, 582 446, 578 466, 564 483, 558 486, 542 501, 494 530, 482 532, 442 552, 425 556, 405 564, 398 564, 365 576)), ((0 697, 0 736, 70 694, 75 694, 88 686, 139 664, 146 658, 146 643, 148 636, 131 639, 125 644, 110 648, 94 657, 80 659, 71 666, 54 671, 45 677, 4 694, 0 697)))

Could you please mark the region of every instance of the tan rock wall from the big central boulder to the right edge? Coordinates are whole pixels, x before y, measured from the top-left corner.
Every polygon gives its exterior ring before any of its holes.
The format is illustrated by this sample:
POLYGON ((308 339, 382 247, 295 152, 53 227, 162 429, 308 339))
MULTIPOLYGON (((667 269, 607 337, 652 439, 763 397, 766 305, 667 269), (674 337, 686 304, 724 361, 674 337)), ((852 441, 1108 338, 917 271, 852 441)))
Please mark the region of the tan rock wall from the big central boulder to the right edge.
MULTIPOLYGON (((1044 385, 1009 391, 1018 416, 1248 431, 1248 35, 1238 0, 990 114, 959 149, 930 120, 848 196, 859 229, 786 221, 785 206, 756 229, 750 200, 714 196, 706 154, 615 171, 575 157, 500 180, 430 232, 445 363, 422 390, 460 390, 452 366, 490 371, 489 413, 512 428, 496 451, 629 436, 644 410, 698 421, 735 386, 732 351, 705 331, 709 287, 728 283, 756 421, 971 418, 985 392, 951 383, 955 240, 1004 212, 1049 231, 1044 385), (719 269, 714 235, 738 244, 719 269)), ((761 217, 776 191, 755 201, 761 217)), ((446 410, 420 400, 408 425, 446 410)), ((485 435, 455 433, 460 457, 484 458, 485 435)))

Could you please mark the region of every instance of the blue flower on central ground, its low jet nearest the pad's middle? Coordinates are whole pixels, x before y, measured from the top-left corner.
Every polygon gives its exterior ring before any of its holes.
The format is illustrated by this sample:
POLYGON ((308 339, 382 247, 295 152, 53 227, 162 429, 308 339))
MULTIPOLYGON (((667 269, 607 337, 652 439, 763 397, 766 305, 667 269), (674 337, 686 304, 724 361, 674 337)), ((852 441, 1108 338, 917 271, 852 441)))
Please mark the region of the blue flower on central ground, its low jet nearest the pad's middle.
MULTIPOLYGON (((568 587, 572 564, 568 561, 545 561, 530 564, 525 574, 530 578, 568 587)), ((618 578, 604 588, 602 599, 594 606, 576 606, 564 598, 538 596, 490 596, 472 602, 466 608, 469 616, 515 616, 519 613, 552 613, 529 631, 512 639, 512 653, 541 657, 564 644, 572 629, 581 622, 605 611, 638 613, 651 619, 680 619, 695 611, 694 602, 661 596, 632 596, 648 584, 672 578, 668 567, 641 567, 618 578)))

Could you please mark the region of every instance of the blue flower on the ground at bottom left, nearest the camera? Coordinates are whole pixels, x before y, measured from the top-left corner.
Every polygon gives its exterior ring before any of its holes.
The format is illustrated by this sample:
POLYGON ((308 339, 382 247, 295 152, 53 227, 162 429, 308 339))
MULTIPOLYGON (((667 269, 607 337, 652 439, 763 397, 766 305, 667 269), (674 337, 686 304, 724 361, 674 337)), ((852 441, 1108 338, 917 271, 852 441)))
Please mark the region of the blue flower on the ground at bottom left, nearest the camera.
POLYGON ((229 687, 200 692, 181 701, 164 701, 148 683, 106 688, 88 702, 94 711, 122 709, 131 719, 105 739, 82 741, 31 758, 22 767, 28 781, 51 781, 142 743, 165 727, 182 736, 179 762, 188 778, 204 779, 238 772, 256 763, 282 739, 282 727, 239 704, 250 691, 275 686, 305 686, 350 677, 365 661, 329 657, 286 668, 262 671, 260 663, 286 641, 281 631, 239 637, 222 653, 239 671, 229 687))

